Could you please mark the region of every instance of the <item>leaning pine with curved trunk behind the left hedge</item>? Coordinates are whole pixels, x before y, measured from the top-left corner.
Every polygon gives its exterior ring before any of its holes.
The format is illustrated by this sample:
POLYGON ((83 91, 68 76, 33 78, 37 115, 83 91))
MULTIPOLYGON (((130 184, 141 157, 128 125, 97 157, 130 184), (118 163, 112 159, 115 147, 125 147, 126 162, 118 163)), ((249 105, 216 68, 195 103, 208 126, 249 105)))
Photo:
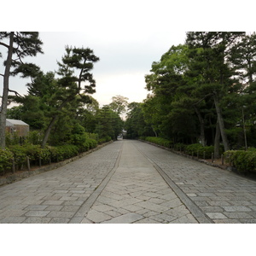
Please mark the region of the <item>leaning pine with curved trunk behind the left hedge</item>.
POLYGON ((92 49, 66 47, 66 54, 62 57, 62 62, 58 62, 59 70, 57 73, 61 75, 58 84, 61 93, 58 93, 55 113, 44 134, 43 148, 62 108, 73 101, 90 102, 88 94, 96 92, 96 81, 90 73, 96 61, 99 61, 99 58, 94 55, 92 49), (76 75, 75 72, 78 74, 76 75))

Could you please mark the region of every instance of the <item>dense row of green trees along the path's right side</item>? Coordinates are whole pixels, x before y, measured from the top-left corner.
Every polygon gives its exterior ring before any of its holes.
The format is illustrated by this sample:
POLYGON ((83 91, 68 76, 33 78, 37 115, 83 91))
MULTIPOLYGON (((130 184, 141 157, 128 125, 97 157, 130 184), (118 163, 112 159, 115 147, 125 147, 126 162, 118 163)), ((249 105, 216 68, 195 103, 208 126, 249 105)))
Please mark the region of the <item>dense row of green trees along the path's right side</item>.
POLYGON ((150 92, 128 106, 127 137, 231 148, 256 146, 256 35, 187 32, 145 76, 150 92))

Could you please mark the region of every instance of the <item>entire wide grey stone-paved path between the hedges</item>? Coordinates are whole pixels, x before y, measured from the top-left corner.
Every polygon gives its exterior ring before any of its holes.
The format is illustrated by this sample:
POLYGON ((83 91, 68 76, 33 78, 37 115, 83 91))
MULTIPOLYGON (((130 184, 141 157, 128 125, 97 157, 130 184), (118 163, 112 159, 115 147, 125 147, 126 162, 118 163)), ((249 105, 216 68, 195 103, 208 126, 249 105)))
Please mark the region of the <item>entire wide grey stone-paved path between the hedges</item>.
POLYGON ((256 182, 117 141, 0 187, 0 223, 255 223, 256 182))

